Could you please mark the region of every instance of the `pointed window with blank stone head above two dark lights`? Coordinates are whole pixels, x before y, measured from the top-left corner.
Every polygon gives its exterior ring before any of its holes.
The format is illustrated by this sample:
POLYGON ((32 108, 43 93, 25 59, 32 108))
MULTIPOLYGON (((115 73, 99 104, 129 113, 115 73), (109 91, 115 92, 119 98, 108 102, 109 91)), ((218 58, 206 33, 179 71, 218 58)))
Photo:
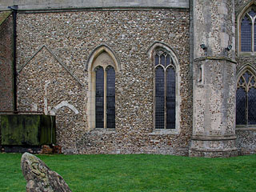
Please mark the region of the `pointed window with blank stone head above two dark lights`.
POLYGON ((118 67, 107 51, 105 46, 94 51, 88 66, 89 91, 86 110, 90 129, 115 128, 115 73, 118 67))

